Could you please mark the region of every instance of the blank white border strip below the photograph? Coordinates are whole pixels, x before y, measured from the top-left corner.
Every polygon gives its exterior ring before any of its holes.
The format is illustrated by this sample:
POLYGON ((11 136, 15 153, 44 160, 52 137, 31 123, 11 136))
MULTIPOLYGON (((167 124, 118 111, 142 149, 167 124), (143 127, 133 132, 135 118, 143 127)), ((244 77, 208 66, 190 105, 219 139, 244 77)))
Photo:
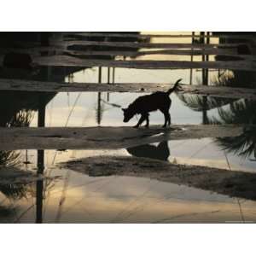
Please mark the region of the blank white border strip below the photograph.
POLYGON ((7 224, 1 228, 3 255, 241 256, 255 249, 255 229, 248 224, 7 224))

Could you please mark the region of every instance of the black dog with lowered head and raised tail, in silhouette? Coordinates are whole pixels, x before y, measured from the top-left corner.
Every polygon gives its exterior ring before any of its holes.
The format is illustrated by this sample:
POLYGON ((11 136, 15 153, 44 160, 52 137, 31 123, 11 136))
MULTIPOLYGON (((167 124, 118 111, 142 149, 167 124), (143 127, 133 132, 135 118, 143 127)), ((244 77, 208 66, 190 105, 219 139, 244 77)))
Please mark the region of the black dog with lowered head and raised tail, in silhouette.
POLYGON ((124 112, 124 122, 127 123, 130 119, 137 113, 141 114, 141 118, 139 119, 137 125, 133 126, 134 128, 138 128, 142 125, 143 121, 146 121, 145 127, 149 125, 149 112, 160 110, 165 115, 165 124, 171 125, 171 116, 169 113, 169 109, 171 107, 171 99, 170 95, 173 91, 177 90, 178 83, 182 79, 178 79, 174 86, 167 90, 166 92, 157 91, 151 95, 140 96, 134 102, 132 102, 128 108, 122 108, 124 112))

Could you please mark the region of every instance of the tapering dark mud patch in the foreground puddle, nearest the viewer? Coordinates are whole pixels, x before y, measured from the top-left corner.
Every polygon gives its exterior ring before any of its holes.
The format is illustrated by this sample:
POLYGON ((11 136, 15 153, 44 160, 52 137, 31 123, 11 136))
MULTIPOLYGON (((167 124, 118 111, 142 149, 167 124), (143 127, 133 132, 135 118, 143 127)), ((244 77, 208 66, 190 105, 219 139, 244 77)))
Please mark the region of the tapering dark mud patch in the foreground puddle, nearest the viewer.
POLYGON ((68 161, 61 166, 92 177, 148 177, 162 182, 183 184, 222 195, 256 200, 256 174, 233 172, 206 166, 174 165, 137 157, 100 156, 68 161))

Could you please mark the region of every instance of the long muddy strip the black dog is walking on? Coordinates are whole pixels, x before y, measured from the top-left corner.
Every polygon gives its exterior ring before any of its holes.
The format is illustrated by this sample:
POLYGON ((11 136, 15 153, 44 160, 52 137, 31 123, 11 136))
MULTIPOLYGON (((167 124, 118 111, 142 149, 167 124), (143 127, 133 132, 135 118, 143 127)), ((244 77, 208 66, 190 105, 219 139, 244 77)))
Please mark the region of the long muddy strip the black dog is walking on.
POLYGON ((167 140, 204 137, 236 137, 243 125, 172 125, 141 127, 0 128, 0 149, 116 149, 167 140))

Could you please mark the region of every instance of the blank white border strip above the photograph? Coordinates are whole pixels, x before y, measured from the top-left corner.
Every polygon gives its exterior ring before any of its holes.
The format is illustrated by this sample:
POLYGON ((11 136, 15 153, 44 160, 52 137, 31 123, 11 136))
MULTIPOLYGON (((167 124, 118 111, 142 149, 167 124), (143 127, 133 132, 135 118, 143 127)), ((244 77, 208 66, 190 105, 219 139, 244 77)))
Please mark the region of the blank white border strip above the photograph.
POLYGON ((255 31, 253 1, 8 0, 2 31, 255 31))

